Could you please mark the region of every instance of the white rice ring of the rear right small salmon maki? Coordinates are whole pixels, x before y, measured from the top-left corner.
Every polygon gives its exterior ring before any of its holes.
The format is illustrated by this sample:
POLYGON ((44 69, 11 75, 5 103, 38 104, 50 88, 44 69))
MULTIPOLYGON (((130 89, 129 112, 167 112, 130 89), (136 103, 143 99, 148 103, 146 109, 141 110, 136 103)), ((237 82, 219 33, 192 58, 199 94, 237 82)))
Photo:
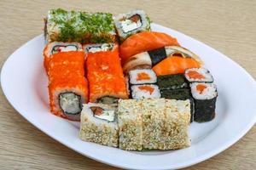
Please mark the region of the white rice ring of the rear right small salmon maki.
POLYGON ((185 71, 185 77, 189 82, 213 82, 213 77, 210 73, 210 71, 208 71, 206 68, 191 68, 191 69, 187 69, 185 71), (190 78, 188 76, 189 71, 197 71, 199 73, 201 73, 201 75, 205 78, 199 79, 199 78, 190 78))

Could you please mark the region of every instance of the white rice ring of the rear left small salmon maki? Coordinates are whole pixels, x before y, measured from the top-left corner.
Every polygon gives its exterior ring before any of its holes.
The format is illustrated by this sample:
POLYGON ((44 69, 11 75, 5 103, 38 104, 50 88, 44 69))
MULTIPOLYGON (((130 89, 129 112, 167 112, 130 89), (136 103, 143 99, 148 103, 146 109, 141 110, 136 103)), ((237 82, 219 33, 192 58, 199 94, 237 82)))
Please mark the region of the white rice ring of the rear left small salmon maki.
POLYGON ((138 69, 129 71, 129 78, 131 84, 146 84, 146 83, 155 83, 156 82, 156 75, 153 70, 151 69, 138 69), (149 80, 137 80, 137 75, 140 73, 146 73, 150 77, 149 80))

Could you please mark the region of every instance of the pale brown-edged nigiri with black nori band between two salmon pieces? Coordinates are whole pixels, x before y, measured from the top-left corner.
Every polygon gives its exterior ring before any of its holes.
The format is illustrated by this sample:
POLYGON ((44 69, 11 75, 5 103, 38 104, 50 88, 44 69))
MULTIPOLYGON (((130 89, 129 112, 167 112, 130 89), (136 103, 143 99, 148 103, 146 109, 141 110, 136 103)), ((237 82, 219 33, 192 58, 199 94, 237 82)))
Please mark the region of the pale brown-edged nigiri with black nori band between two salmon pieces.
POLYGON ((172 57, 173 55, 192 58, 201 63, 201 65, 203 64, 202 60, 196 54, 189 51, 189 49, 179 46, 166 46, 131 56, 123 65, 123 70, 124 72, 128 72, 135 68, 152 68, 154 65, 160 63, 161 60, 172 57))

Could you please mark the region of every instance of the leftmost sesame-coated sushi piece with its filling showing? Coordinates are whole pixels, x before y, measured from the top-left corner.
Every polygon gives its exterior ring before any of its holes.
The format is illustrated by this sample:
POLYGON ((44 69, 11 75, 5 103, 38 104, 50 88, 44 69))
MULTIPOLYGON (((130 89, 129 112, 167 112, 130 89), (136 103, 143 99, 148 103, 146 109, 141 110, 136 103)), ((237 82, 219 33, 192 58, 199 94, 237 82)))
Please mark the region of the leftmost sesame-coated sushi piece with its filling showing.
POLYGON ((114 107, 85 104, 81 113, 80 139, 87 142, 119 146, 119 128, 114 107))

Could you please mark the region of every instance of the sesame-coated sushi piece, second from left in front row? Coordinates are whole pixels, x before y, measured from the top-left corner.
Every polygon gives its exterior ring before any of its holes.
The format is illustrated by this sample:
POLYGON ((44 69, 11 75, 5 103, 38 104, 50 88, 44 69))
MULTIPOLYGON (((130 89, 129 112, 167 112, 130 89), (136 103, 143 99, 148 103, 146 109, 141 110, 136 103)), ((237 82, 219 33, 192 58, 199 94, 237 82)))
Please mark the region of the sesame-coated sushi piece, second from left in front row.
POLYGON ((119 99, 119 148, 143 150, 143 110, 139 99, 119 99))

